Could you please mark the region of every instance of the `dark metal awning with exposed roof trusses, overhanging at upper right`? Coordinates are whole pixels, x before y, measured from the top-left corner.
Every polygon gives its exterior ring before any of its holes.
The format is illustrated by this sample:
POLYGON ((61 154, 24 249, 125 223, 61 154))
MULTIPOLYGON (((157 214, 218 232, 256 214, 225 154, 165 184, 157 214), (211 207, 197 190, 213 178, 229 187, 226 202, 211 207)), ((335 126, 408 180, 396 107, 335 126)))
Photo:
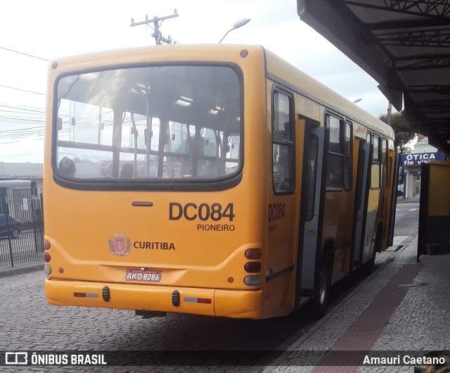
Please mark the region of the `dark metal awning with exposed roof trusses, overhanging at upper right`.
POLYGON ((450 151, 450 0, 297 0, 297 11, 450 151))

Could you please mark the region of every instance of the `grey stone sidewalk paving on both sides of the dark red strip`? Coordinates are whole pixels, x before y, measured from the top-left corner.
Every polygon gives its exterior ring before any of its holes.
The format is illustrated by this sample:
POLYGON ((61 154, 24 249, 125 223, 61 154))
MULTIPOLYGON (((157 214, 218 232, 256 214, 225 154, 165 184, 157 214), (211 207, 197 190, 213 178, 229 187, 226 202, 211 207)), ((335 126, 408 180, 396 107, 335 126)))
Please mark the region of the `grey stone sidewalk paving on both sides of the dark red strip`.
MULTIPOLYGON (((278 360, 277 367, 268 367, 264 373, 286 372, 413 372, 414 367, 402 365, 405 355, 417 351, 450 350, 450 254, 422 255, 416 263, 417 236, 401 248, 393 260, 380 271, 368 277, 356 291, 326 315, 315 331, 297 341, 293 353, 278 360), (390 279, 407 265, 418 265, 413 281, 397 284, 407 289, 401 303, 390 315, 371 347, 371 356, 399 356, 398 365, 367 365, 360 367, 303 366, 305 351, 316 356, 316 362, 328 350, 340 346, 342 336, 357 318, 373 303, 375 297, 387 286, 390 279)), ((395 289, 392 289, 394 291, 395 289)), ((376 320, 366 320, 374 323, 376 320)), ((361 331, 354 341, 361 346, 368 335, 361 331)))

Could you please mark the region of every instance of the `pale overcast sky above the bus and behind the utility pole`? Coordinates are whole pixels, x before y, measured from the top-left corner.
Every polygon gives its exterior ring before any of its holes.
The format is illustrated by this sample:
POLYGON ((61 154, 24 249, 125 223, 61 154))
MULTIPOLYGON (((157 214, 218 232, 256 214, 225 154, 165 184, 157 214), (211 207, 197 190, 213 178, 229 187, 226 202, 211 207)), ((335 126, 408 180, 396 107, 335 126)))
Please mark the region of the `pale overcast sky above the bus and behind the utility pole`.
MULTIPOLYGON (((42 163, 49 60, 131 46, 154 45, 147 25, 164 20, 162 34, 180 44, 266 47, 378 117, 387 99, 378 83, 297 15, 296 0, 14 0, 0 13, 0 162, 42 163)), ((152 24, 153 25, 153 24, 152 24)))

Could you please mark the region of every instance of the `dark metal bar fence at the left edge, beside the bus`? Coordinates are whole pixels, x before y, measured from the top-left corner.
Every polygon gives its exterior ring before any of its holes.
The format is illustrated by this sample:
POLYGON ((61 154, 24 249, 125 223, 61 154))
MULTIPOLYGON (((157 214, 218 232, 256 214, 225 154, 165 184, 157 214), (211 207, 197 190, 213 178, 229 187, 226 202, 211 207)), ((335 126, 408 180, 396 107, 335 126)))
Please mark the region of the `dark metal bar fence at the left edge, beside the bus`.
POLYGON ((42 194, 14 193, 4 197, 0 214, 0 267, 43 261, 42 194))

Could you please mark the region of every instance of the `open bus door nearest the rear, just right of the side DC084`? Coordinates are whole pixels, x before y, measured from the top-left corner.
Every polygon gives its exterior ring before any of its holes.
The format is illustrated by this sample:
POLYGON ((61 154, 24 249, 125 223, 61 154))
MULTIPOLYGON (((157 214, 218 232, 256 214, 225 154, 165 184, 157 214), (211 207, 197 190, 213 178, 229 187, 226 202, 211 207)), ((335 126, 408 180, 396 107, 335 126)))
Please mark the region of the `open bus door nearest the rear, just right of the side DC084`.
POLYGON ((295 280, 296 308, 300 305, 301 296, 311 296, 314 291, 316 263, 319 260, 321 242, 325 179, 323 151, 326 129, 319 127, 319 122, 307 118, 303 120, 305 120, 304 167, 295 280))

